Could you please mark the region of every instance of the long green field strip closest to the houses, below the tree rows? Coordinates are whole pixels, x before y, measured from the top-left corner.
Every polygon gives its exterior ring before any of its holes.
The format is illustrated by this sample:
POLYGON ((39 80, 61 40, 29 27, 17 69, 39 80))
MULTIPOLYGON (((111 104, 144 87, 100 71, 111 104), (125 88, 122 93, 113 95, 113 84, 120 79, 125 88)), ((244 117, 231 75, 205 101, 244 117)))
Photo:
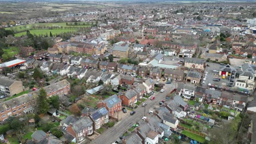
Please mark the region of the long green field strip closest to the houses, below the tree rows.
MULTIPOLYGON (((75 32, 77 30, 69 30, 69 29, 34 29, 34 30, 30 30, 30 33, 33 35, 50 35, 50 32, 53 35, 57 35, 60 33, 68 33, 68 32, 75 32)), ((15 37, 21 37, 22 35, 26 35, 27 32, 21 32, 21 33, 16 33, 15 37)))

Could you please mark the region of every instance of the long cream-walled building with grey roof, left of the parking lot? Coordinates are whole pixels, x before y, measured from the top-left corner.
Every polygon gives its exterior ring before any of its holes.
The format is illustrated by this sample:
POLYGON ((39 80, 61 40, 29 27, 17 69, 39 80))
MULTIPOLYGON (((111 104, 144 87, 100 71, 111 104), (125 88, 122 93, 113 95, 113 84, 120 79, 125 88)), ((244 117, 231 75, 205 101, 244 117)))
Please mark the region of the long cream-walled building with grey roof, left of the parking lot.
POLYGON ((205 60, 200 58, 185 58, 185 67, 189 69, 205 69, 205 60))

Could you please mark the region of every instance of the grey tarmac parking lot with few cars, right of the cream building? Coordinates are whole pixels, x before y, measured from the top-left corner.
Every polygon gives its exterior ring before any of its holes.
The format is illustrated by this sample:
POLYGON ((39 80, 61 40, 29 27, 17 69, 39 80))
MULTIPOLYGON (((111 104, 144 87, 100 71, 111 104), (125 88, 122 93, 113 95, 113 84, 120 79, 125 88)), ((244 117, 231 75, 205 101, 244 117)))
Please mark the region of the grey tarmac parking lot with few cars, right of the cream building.
POLYGON ((209 67, 206 67, 206 70, 205 70, 208 72, 208 74, 207 74, 206 82, 205 84, 202 84, 202 86, 207 87, 209 83, 211 83, 210 85, 213 87, 226 87, 229 80, 227 78, 222 79, 222 77, 219 76, 219 73, 213 72, 213 70, 219 70, 221 65, 218 63, 206 63, 206 64, 209 65, 209 67), (216 78, 214 74, 216 74, 216 77, 219 77, 220 81, 213 81, 213 79, 216 78))

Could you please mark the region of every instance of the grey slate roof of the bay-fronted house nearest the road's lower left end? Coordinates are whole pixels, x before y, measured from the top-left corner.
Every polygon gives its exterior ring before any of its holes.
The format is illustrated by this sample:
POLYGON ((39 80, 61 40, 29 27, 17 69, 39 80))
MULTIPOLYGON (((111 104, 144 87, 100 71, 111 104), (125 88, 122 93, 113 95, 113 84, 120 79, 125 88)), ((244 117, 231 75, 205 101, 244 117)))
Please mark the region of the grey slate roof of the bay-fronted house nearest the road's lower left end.
POLYGON ((92 126, 92 121, 89 117, 83 117, 79 119, 77 122, 73 123, 72 128, 75 133, 79 133, 83 129, 92 126))

